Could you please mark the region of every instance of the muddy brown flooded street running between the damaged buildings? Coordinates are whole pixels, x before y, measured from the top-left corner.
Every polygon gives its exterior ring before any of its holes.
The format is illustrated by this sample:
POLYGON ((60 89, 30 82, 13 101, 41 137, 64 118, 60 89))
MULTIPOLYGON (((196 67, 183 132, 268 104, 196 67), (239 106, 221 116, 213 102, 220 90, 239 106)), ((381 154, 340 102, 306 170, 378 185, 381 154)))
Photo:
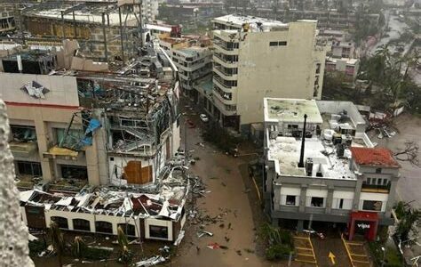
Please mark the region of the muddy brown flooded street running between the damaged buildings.
POLYGON ((204 230, 211 231, 213 237, 203 236, 200 239, 196 236, 200 225, 189 227, 189 233, 179 248, 179 256, 172 265, 271 266, 253 253, 256 250, 256 228, 248 194, 256 194, 256 190, 245 188, 242 182, 239 167, 244 162, 240 158, 226 156, 207 143, 204 148, 196 145, 198 142, 202 142, 200 129, 187 128, 187 150, 195 150, 194 157, 200 158, 189 171, 199 175, 207 190, 211 191, 205 198, 197 199, 197 209, 211 217, 220 214, 223 222, 205 226, 204 230), (215 242, 227 249, 207 247, 215 242))

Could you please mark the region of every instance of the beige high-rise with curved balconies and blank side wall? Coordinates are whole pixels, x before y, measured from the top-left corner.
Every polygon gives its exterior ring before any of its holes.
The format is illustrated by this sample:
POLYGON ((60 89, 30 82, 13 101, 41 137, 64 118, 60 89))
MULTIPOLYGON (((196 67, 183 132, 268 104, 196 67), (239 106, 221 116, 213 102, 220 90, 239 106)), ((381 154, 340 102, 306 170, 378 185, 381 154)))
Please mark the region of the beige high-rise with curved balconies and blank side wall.
POLYGON ((213 96, 221 125, 247 133, 263 121, 263 98, 320 99, 329 47, 315 20, 288 24, 249 16, 213 20, 213 96))

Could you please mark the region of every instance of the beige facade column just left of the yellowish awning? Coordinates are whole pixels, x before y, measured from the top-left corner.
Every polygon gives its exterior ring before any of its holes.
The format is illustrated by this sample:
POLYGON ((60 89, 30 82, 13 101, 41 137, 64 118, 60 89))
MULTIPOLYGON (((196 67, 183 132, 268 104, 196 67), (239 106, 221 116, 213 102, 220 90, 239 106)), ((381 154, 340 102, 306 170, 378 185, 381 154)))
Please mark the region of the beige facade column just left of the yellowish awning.
POLYGON ((43 121, 42 110, 32 109, 34 114, 34 125, 36 126, 36 140, 38 143, 38 153, 43 170, 44 181, 52 181, 56 174, 52 165, 51 158, 44 158, 44 152, 47 152, 50 146, 50 137, 48 134, 48 124, 43 121))

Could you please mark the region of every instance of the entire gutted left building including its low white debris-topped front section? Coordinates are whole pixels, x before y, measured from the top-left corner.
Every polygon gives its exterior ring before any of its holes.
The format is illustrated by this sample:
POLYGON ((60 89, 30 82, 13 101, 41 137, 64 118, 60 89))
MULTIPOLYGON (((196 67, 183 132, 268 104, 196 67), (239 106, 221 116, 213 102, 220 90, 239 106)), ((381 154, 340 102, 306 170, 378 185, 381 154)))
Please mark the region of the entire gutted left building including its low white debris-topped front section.
MULTIPOLYGON (((41 48, 41 47, 38 47, 41 48)), ((0 93, 30 228, 173 241, 186 221, 177 67, 157 41, 126 65, 75 56, 78 44, 0 59, 0 93)))

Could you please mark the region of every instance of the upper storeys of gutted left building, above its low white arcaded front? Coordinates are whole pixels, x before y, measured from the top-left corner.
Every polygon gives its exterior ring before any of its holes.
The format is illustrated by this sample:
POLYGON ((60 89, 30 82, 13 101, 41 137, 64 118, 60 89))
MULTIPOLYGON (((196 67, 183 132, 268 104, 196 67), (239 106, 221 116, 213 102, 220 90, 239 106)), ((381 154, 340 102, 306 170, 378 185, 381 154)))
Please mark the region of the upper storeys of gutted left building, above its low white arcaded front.
POLYGON ((20 189, 156 182, 179 149, 177 68, 157 42, 126 65, 60 47, 10 50, 0 93, 20 189))

